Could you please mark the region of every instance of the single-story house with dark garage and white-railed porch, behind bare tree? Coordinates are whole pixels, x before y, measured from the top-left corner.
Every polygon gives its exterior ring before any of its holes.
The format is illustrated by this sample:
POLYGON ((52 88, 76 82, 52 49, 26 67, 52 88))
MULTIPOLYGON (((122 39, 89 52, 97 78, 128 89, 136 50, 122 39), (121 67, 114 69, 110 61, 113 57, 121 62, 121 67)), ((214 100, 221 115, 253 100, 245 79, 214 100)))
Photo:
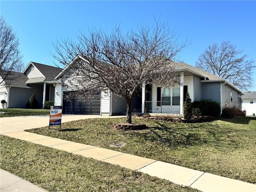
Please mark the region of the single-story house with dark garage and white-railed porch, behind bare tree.
MULTIPOLYGON (((56 93, 54 104, 63 106, 64 113, 72 114, 126 114, 126 100, 112 92, 102 92, 94 95, 90 102, 76 98, 65 100, 65 95, 73 91, 63 84, 74 81, 74 73, 70 66, 75 64, 77 56, 56 76, 56 93)), ((155 84, 143 84, 141 93, 134 95, 132 109, 134 112, 148 112, 153 114, 183 114, 183 102, 186 92, 192 101, 210 99, 224 106, 238 106, 242 108, 242 91, 223 78, 195 68, 185 63, 177 63, 176 71, 180 74, 180 84, 172 87, 155 84)), ((152 80, 154 82, 154 80, 152 80)))

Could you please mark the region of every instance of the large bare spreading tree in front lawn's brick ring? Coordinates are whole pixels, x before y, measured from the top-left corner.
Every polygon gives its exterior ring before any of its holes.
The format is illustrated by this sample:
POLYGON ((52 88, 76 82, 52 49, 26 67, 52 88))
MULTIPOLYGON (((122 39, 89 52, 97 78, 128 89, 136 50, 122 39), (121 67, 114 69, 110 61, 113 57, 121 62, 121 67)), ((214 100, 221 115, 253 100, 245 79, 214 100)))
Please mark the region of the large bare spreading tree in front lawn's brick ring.
POLYGON ((69 66, 73 78, 65 86, 77 90, 76 94, 110 90, 125 98, 126 122, 131 123, 132 98, 142 83, 172 85, 179 80, 174 60, 186 42, 179 45, 175 35, 166 24, 158 22, 126 34, 118 27, 110 34, 94 29, 89 34, 81 33, 76 42, 57 42, 52 56, 64 66, 79 58, 69 66))

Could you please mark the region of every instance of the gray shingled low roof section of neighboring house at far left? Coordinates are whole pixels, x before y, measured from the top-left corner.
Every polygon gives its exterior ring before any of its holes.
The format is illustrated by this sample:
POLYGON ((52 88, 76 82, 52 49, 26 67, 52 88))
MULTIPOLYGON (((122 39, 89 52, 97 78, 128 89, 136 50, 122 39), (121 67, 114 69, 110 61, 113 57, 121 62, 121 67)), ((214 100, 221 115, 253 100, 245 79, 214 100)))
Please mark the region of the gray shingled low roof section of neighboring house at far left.
MULTIPOLYGON (((1 75, 5 76, 8 71, 1 71, 1 75)), ((16 86, 16 87, 23 87, 23 88, 30 88, 26 86, 25 82, 28 80, 28 77, 20 72, 10 71, 6 79, 4 80, 5 84, 8 86, 16 86)))

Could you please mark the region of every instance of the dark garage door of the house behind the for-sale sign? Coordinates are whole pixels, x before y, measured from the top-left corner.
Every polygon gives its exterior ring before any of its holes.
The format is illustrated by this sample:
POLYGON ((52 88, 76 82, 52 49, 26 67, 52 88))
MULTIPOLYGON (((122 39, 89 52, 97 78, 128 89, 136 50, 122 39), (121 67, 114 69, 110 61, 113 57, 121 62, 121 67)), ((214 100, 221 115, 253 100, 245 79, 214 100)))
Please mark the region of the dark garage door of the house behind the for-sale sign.
MULTIPOLYGON (((67 94, 64 92, 64 94, 67 94)), ((64 97, 65 98, 65 97, 64 97)), ((63 100, 63 114, 90 114, 99 115, 100 114, 100 94, 92 95, 89 102, 81 99, 71 99, 63 100)))

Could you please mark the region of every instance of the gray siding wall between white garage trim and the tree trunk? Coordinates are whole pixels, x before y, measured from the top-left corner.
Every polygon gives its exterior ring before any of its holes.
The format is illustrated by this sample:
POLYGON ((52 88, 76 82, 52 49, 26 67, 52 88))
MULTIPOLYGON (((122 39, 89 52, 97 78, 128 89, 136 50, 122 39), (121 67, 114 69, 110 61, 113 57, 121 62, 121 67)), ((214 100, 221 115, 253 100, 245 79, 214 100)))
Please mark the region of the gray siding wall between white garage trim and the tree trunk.
POLYGON ((112 95, 112 115, 126 115, 126 100, 115 94, 112 95))

